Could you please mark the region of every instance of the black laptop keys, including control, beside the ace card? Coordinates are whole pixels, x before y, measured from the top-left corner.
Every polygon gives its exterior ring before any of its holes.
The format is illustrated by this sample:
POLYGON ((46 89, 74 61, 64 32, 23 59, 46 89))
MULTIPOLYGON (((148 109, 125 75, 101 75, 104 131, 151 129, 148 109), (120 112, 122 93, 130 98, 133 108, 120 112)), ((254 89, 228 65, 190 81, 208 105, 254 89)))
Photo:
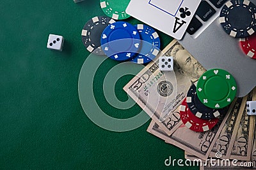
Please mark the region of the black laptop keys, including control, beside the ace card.
POLYGON ((202 1, 198 6, 196 13, 189 23, 189 26, 186 30, 189 35, 194 35, 200 27, 204 26, 205 22, 207 22, 211 17, 216 13, 220 12, 221 7, 228 0, 209 0, 202 1))

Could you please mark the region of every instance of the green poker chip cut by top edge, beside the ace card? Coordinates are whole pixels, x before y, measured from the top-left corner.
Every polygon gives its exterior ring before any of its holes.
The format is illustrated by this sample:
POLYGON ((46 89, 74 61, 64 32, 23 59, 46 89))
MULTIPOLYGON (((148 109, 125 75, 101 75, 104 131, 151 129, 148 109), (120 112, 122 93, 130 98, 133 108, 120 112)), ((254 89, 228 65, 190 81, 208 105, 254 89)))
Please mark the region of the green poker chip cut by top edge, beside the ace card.
POLYGON ((108 17, 123 20, 131 17, 125 12, 129 3, 130 0, 100 0, 100 7, 108 17))

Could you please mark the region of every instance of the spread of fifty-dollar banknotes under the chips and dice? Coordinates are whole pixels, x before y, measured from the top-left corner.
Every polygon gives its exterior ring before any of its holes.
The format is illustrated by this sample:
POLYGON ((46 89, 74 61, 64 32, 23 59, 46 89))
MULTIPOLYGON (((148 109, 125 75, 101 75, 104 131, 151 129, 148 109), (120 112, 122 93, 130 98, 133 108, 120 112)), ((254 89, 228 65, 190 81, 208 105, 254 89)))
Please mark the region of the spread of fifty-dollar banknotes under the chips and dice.
POLYGON ((256 88, 245 97, 236 98, 214 128, 193 132, 180 120, 179 107, 191 84, 206 70, 176 40, 159 56, 124 87, 152 118, 147 132, 184 150, 185 158, 200 162, 201 169, 256 168, 255 116, 246 114, 246 101, 256 100, 256 88), (173 56, 173 72, 159 70, 159 56, 173 56), (211 158, 229 160, 230 165, 210 164, 211 158), (231 164, 232 160, 236 165, 231 164))

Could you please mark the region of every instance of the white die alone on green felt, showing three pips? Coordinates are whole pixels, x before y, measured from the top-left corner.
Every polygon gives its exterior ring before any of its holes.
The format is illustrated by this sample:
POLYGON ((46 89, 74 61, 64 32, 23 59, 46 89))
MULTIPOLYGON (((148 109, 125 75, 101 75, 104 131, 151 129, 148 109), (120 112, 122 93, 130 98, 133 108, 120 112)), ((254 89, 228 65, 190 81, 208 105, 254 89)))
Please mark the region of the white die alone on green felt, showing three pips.
POLYGON ((62 51, 64 43, 63 36, 60 35, 49 35, 47 48, 52 50, 60 50, 62 51))

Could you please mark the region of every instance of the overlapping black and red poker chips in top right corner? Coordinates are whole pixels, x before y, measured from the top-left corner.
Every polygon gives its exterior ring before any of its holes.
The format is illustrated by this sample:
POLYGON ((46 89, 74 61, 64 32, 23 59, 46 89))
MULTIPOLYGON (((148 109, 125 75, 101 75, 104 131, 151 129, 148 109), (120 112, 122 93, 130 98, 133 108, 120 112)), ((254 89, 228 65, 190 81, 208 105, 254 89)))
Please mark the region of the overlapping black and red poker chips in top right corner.
MULTIPOLYGON (((234 38, 240 38, 244 54, 256 59, 256 6, 250 1, 227 1, 220 13, 223 30, 234 38)), ((238 41, 237 41, 238 42, 238 41)))

